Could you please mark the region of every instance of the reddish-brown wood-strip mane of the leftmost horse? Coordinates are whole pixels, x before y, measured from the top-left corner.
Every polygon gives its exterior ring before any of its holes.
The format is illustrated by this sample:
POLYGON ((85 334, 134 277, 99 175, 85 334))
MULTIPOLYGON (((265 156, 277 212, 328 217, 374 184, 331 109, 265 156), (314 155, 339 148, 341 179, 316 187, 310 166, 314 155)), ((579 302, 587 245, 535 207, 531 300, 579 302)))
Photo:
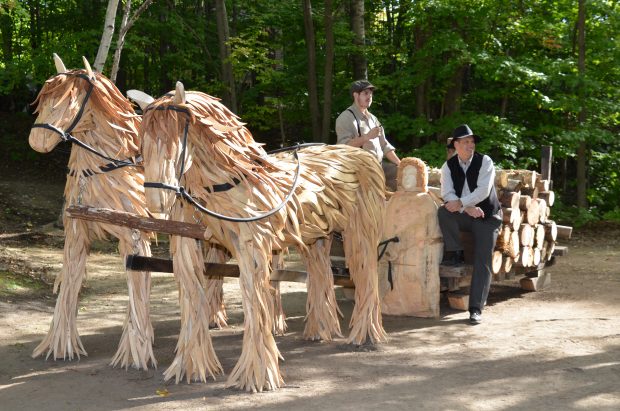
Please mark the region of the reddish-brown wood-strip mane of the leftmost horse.
MULTIPOLYGON (((57 74, 48 79, 32 105, 36 105, 35 113, 39 112, 39 105, 47 99, 54 99, 55 106, 66 104, 81 105, 81 101, 72 102, 78 95, 74 90, 86 90, 87 81, 78 75, 88 76, 85 69, 70 70, 57 74)), ((100 123, 106 125, 106 137, 116 140, 118 145, 132 153, 137 153, 140 147, 138 128, 141 117, 137 115, 133 106, 110 79, 95 72, 91 79, 93 91, 87 102, 87 109, 96 113, 100 123)), ((78 107, 79 109, 79 107, 78 107)))

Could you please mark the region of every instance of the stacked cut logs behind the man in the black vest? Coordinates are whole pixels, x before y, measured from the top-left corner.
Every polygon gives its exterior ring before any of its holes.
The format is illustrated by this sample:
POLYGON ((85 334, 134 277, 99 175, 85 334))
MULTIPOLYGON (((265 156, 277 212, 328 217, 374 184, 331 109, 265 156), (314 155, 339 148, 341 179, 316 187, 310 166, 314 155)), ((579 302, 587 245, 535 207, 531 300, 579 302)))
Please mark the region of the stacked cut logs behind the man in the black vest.
MULTIPOLYGON (((429 190, 437 198, 440 170, 429 170, 429 190)), ((558 236, 570 238, 571 227, 551 219, 555 201, 550 180, 531 170, 497 170, 495 188, 502 206, 500 229, 492 269, 499 279, 511 273, 528 273, 544 267, 554 254, 558 236)))

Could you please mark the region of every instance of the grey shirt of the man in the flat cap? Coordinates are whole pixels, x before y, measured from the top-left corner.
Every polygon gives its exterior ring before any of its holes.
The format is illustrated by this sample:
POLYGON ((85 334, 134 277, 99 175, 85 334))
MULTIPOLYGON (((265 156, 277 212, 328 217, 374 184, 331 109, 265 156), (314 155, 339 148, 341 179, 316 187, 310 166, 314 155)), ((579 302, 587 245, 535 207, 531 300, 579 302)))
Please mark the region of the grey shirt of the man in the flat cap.
MULTIPOLYGON (((347 110, 340 113, 336 119, 336 135, 338 136, 338 144, 348 144, 351 139, 364 135, 377 126, 381 126, 381 123, 379 123, 377 117, 372 115, 370 112, 368 112, 368 115, 362 114, 357 106, 353 104, 347 110), (353 111, 353 114, 349 110, 353 111)), ((392 146, 385 138, 383 128, 381 128, 377 138, 373 138, 366 142, 362 148, 374 154, 379 162, 383 160, 383 156, 386 153, 395 150, 394 146, 392 146)))

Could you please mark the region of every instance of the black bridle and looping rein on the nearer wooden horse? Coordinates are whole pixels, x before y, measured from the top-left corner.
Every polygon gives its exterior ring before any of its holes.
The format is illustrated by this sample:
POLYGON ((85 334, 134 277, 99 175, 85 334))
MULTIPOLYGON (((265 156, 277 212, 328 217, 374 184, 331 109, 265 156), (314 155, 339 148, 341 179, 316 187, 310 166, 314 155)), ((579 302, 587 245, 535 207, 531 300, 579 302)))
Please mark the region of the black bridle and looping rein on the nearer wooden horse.
MULTIPOLYGON (((179 106, 175 106, 175 105, 168 105, 168 106, 159 106, 159 107, 152 107, 149 106, 147 107, 144 112, 146 113, 148 110, 174 110, 180 113, 185 113, 188 117, 190 116, 190 112, 187 108, 185 107, 179 107, 179 106)), ((183 130, 183 147, 181 149, 181 166, 179 168, 179 175, 177 177, 177 181, 181 181, 181 177, 183 177, 183 175, 185 174, 185 152, 187 150, 187 135, 189 132, 189 118, 187 120, 185 120, 185 127, 183 130)), ((309 143, 310 144, 310 143, 309 143)), ((316 143, 314 143, 316 144, 316 143)), ((170 191, 174 191, 174 193, 185 199, 187 202, 191 203, 197 210, 202 211, 203 213, 210 215, 211 217, 215 217, 217 219, 220 220, 225 220, 225 221, 231 221, 231 222, 235 222, 235 223, 249 223, 252 221, 258 221, 258 220, 262 220, 263 218, 267 218, 270 217, 272 215, 274 215, 275 213, 277 213, 278 211, 280 211, 282 209, 282 207, 284 207, 286 205, 286 203, 288 203, 288 201, 291 199, 293 193, 295 192, 295 189, 297 188, 297 181, 299 179, 299 174, 301 171, 301 163, 299 161, 299 156, 297 154, 297 151, 299 150, 299 148, 302 145, 298 144, 295 147, 289 147, 289 148, 284 148, 284 149, 278 149, 276 150, 276 152, 280 152, 280 151, 290 151, 290 150, 295 150, 293 153, 293 156, 295 157, 295 160, 297 160, 297 169, 295 170, 295 178, 293 179, 293 185, 291 186, 290 191, 288 192, 288 194, 286 195, 286 197, 284 197, 284 200, 282 200, 282 202, 272 208, 271 210, 261 213, 259 215, 256 215, 254 217, 231 217, 231 216, 227 216, 227 215, 223 215, 220 213, 217 213, 213 210, 210 210, 208 208, 206 208, 205 206, 203 206, 202 204, 198 203, 196 201, 196 199, 194 197, 192 197, 191 194, 189 194, 187 192, 187 190, 185 189, 185 187, 183 187, 182 185, 171 185, 171 184, 165 184, 165 183, 161 183, 161 182, 152 182, 152 181, 145 181, 144 182, 144 187, 145 188, 159 188, 159 189, 163 189, 163 190, 170 190, 170 191)), ((304 147, 306 146, 305 144, 303 145, 304 147)), ((239 184, 241 181, 237 178, 233 179, 233 182, 235 183, 235 185, 232 185, 230 183, 223 183, 223 184, 216 184, 213 185, 211 187, 206 187, 207 191, 209 193, 215 193, 215 192, 222 192, 222 191, 228 191, 230 189, 232 189, 234 186, 236 186, 237 184, 239 184)))

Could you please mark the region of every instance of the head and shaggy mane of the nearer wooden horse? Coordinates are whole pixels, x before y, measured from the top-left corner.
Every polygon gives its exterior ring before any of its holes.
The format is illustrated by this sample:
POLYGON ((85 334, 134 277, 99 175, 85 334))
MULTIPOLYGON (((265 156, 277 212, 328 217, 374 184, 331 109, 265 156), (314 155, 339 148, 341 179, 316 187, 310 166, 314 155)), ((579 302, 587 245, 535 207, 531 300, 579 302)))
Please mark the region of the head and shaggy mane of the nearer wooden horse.
POLYGON ((147 205, 153 213, 167 213, 172 206, 174 191, 162 184, 203 197, 214 187, 252 179, 251 170, 262 168, 256 160, 266 156, 219 99, 186 92, 181 82, 145 110, 140 137, 147 205))

